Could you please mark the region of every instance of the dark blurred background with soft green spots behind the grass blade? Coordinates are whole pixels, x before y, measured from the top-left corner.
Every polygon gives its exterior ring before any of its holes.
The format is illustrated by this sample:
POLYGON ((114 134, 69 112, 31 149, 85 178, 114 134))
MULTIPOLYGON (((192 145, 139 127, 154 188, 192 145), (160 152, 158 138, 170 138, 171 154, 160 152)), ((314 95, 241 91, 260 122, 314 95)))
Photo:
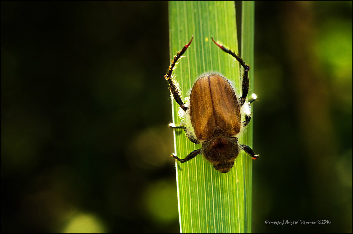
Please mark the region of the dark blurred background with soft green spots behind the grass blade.
MULTIPOLYGON (((352 1, 255 10, 252 231, 352 232, 352 1)), ((1 1, 1 232, 180 231, 168 46, 164 1, 1 1)))

